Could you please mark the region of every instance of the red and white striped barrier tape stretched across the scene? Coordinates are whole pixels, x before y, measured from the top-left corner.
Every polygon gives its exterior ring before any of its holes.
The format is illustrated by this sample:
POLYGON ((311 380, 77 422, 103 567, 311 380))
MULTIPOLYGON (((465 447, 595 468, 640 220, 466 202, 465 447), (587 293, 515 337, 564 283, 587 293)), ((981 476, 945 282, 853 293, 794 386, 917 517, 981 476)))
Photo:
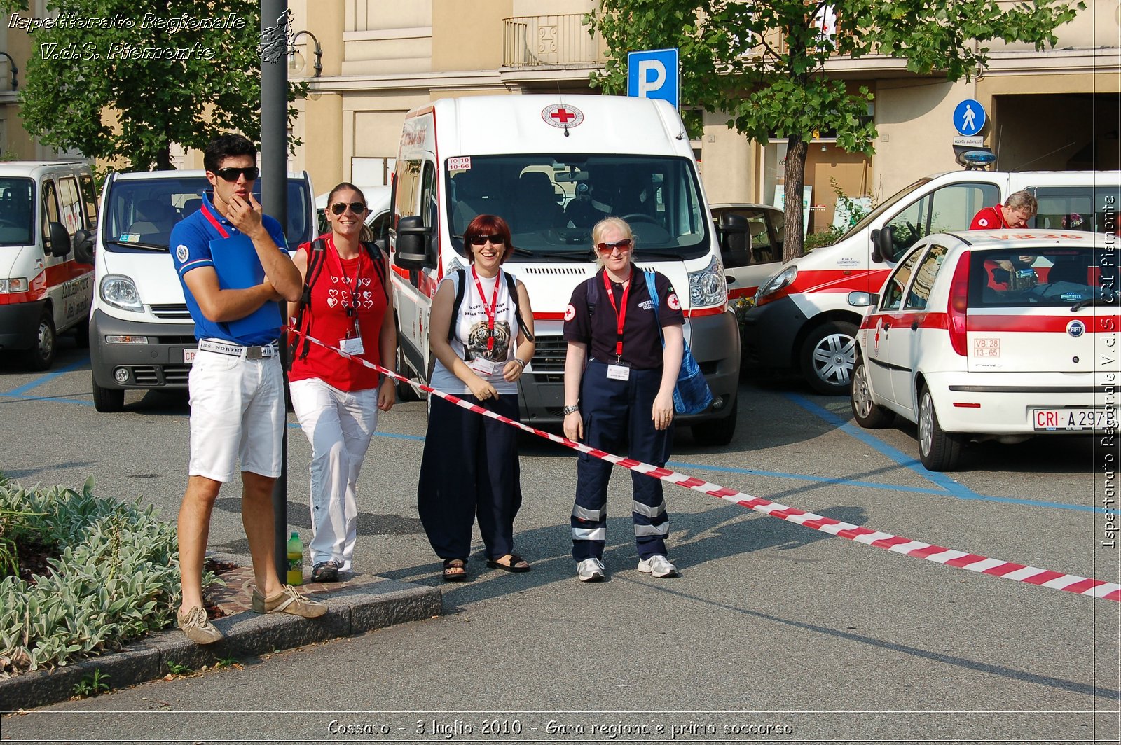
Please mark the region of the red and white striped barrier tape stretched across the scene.
POLYGON ((587 447, 583 443, 577 443, 576 440, 571 440, 567 437, 560 437, 535 427, 529 427, 520 421, 515 421, 508 417, 502 417, 480 406, 464 401, 463 399, 452 395, 451 393, 444 393, 443 391, 437 391, 436 389, 429 388, 424 383, 411 381, 408 378, 398 375, 391 370, 386 370, 380 365, 367 362, 365 360, 348 354, 337 347, 325 344, 313 336, 308 336, 300 332, 294 333, 304 336, 313 344, 331 350, 332 352, 356 362, 358 364, 377 370, 382 374, 389 375, 390 378, 399 380, 404 383, 408 383, 413 388, 438 395, 446 401, 451 401, 457 407, 469 409, 475 413, 481 413, 482 416, 490 417, 491 419, 498 419, 499 421, 510 425, 511 427, 517 427, 524 431, 531 432, 538 437, 544 437, 547 440, 564 445, 565 447, 578 450, 580 453, 586 453, 587 455, 613 463, 622 466, 623 468, 637 471, 638 473, 646 474, 652 478, 660 478, 661 481, 677 484, 678 486, 684 486, 693 490, 694 492, 707 494, 708 496, 715 496, 726 502, 731 502, 732 504, 738 504, 741 507, 748 507, 750 510, 754 510, 756 512, 770 515, 771 518, 794 522, 803 525, 804 528, 813 528, 814 530, 837 536, 839 538, 847 538, 859 543, 867 543, 868 546, 887 549, 888 551, 895 551, 896 553, 902 553, 904 556, 914 557, 916 559, 926 559, 927 561, 935 561, 949 567, 969 569, 970 571, 978 571, 983 575, 992 575, 994 577, 1003 577, 1004 579, 1015 579, 1016 581, 1027 583, 1029 585, 1039 585, 1040 587, 1062 589, 1077 595, 1088 595, 1091 597, 1105 600, 1121 602, 1121 585, 1117 583, 1106 583, 1101 579, 1091 579, 1087 577, 1078 577, 1077 575, 1063 574, 1062 571, 1050 571, 1047 569, 1039 569, 1038 567, 1028 567, 1022 564, 1002 561, 1000 559, 990 559, 989 557, 980 556, 978 553, 966 553, 965 551, 947 549, 943 546, 914 541, 909 538, 892 536, 891 533, 871 530, 870 528, 861 528, 860 525, 841 522, 840 520, 825 518, 823 515, 814 514, 813 512, 805 512, 803 510, 798 510, 797 507, 788 507, 784 504, 779 504, 778 502, 771 502, 759 496, 751 496, 749 494, 744 494, 743 492, 736 492, 728 488, 726 486, 711 484, 702 478, 687 476, 683 473, 670 471, 668 468, 659 468, 658 466, 652 466, 649 463, 642 463, 641 460, 634 460, 632 458, 622 458, 604 450, 597 450, 595 448, 587 447))

